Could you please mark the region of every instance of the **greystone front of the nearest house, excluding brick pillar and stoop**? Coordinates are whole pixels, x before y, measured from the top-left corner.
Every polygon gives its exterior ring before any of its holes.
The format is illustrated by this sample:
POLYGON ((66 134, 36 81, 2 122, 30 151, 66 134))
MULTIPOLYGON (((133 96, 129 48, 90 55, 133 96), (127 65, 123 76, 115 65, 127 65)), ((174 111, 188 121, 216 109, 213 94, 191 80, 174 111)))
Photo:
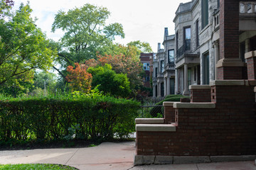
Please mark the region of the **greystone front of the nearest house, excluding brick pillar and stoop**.
MULTIPOLYGON (((253 11, 254 3, 240 2, 240 45, 235 50, 239 58, 231 62, 242 69, 242 79, 247 79, 245 53, 255 50, 255 18, 250 17, 253 11)), ((174 23, 176 94, 189 96, 190 85, 206 85, 218 79, 217 69, 225 63, 220 60, 220 1, 193 0, 180 4, 174 23)))

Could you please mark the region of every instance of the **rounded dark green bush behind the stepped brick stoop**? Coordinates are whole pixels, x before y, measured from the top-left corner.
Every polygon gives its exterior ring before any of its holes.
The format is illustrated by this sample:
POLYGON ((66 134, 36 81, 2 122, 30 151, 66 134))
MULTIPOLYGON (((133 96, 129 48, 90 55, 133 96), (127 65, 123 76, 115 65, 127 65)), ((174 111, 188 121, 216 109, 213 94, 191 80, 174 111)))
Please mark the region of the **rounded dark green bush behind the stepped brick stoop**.
POLYGON ((159 115, 164 116, 164 107, 163 103, 164 101, 181 101, 181 98, 189 98, 188 96, 182 96, 182 95, 176 95, 171 94, 166 96, 166 98, 162 101, 159 101, 159 103, 156 103, 156 106, 154 108, 151 108, 151 111, 149 112, 152 117, 156 117, 159 115))

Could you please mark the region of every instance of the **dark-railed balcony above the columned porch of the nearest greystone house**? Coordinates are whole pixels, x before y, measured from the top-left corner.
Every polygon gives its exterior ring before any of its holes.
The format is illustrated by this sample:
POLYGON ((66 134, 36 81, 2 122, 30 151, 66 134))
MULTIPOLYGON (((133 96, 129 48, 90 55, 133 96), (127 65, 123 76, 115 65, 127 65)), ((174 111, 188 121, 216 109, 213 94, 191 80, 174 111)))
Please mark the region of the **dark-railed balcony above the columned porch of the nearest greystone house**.
POLYGON ((187 42, 183 44, 176 52, 176 63, 185 57, 185 55, 195 55, 197 54, 196 50, 199 48, 198 42, 187 42))

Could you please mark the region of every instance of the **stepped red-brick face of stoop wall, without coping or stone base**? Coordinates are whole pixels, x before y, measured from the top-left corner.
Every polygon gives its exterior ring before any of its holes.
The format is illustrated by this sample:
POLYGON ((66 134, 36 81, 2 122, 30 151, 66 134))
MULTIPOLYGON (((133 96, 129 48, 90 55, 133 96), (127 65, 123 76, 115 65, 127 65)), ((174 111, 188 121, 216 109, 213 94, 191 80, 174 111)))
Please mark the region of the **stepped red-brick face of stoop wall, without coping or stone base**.
POLYGON ((176 132, 137 132, 138 155, 256 154, 254 86, 213 86, 210 108, 176 108, 176 132))

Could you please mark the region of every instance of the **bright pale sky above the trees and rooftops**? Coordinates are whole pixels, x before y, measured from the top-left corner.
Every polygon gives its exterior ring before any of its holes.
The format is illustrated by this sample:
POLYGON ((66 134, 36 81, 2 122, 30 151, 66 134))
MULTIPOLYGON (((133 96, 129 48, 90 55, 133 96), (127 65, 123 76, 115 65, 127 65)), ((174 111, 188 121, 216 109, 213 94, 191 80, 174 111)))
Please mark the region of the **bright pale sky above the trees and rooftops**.
MULTIPOLYGON (((58 11, 84 4, 106 7, 110 11, 107 23, 121 23, 125 38, 116 38, 115 42, 126 45, 128 42, 141 40, 149 42, 152 50, 157 52, 157 43, 164 40, 164 28, 169 29, 169 35, 174 34, 174 17, 180 3, 191 0, 30 0, 33 9, 32 17, 38 18, 36 25, 46 33, 47 38, 58 41, 63 32, 51 32, 55 14, 58 11)), ((14 8, 27 0, 14 0, 14 8)))

